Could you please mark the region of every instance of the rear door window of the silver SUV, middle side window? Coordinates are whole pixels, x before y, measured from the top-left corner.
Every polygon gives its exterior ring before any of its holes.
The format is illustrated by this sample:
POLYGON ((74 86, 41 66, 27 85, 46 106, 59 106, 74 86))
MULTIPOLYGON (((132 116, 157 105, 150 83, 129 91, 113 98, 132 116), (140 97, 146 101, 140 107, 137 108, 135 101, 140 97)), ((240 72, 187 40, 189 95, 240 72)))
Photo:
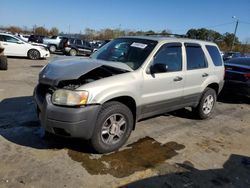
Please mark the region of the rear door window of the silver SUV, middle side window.
POLYGON ((187 70, 207 67, 205 54, 198 44, 185 44, 187 53, 187 70))

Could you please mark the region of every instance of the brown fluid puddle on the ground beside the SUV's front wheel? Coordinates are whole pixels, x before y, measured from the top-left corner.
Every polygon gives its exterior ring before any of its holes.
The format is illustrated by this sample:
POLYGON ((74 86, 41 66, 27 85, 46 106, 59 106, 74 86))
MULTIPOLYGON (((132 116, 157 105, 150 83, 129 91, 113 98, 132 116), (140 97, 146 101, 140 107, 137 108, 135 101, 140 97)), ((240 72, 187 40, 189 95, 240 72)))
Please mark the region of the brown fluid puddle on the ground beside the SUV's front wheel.
POLYGON ((176 142, 161 144, 150 137, 145 137, 127 146, 127 149, 111 154, 93 158, 89 154, 69 150, 68 155, 72 160, 80 162, 92 175, 111 174, 122 178, 136 171, 153 168, 177 155, 176 150, 184 149, 185 146, 176 142))

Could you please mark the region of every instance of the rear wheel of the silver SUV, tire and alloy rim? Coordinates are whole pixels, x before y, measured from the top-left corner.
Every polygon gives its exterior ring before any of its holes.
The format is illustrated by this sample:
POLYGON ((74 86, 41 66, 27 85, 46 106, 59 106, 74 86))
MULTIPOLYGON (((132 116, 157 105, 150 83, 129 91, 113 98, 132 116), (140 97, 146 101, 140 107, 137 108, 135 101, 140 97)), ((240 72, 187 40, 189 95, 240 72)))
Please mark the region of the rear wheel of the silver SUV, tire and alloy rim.
POLYGON ((217 95, 214 89, 206 88, 202 94, 200 102, 194 112, 199 119, 207 119, 213 113, 216 104, 217 95))

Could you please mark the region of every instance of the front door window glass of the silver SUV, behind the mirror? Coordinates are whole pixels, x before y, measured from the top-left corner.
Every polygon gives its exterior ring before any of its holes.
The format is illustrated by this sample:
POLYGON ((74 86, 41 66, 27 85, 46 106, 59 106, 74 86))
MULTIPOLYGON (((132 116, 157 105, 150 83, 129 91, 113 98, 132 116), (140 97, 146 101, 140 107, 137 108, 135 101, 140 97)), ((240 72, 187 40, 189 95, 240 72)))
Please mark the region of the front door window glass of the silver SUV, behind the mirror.
POLYGON ((181 44, 165 44, 163 45, 154 58, 153 64, 161 64, 166 66, 167 72, 175 72, 182 70, 182 50, 181 44))

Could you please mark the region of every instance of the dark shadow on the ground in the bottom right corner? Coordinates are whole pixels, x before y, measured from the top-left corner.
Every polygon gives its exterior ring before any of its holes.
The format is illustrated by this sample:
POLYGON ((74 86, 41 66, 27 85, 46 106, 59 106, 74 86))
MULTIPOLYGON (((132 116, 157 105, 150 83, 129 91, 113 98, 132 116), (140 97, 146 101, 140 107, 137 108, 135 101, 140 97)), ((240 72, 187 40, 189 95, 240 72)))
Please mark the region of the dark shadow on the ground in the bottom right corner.
POLYGON ((232 154, 222 169, 198 170, 177 164, 183 172, 160 174, 122 187, 250 187, 250 158, 232 154))

